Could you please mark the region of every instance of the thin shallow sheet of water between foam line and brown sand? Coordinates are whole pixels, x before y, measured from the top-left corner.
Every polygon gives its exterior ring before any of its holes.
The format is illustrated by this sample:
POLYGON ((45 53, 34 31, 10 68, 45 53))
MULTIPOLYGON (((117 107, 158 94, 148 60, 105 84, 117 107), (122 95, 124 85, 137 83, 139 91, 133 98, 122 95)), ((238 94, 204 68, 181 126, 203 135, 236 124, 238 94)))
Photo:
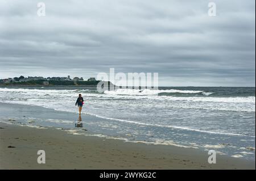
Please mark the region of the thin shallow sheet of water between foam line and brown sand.
POLYGON ((218 154, 255 160, 255 137, 199 132, 189 129, 137 124, 82 113, 83 128, 75 128, 77 113, 39 106, 0 103, 0 120, 28 127, 55 127, 72 134, 100 136, 146 144, 216 150, 218 154), (85 132, 85 129, 88 132, 85 132))

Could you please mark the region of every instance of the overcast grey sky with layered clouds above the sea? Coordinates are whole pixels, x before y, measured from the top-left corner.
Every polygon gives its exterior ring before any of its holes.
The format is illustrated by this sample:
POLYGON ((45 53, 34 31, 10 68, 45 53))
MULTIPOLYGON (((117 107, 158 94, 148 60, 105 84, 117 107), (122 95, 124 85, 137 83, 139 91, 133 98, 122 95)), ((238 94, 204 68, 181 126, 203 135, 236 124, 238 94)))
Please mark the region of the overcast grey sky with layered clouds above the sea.
POLYGON ((0 1, 0 78, 115 68, 157 72, 160 86, 255 86, 254 0, 38 2, 0 1))

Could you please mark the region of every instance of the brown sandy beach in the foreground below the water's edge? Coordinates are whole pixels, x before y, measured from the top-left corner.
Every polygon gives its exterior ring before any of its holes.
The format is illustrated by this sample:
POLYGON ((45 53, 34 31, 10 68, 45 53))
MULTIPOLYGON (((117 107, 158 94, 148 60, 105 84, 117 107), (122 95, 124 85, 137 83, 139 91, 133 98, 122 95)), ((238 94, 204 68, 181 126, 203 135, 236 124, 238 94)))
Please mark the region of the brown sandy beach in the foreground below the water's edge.
POLYGON ((0 169, 255 169, 255 162, 206 151, 147 145, 0 123, 0 169), (37 162, 38 150, 46 163, 37 162))

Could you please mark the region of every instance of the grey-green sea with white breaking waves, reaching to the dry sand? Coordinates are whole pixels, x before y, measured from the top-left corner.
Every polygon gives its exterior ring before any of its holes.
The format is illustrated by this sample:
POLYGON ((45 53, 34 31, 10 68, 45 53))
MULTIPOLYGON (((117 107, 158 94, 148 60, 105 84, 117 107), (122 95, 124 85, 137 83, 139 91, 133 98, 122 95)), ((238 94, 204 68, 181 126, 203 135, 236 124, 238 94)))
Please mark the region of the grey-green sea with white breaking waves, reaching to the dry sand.
POLYGON ((26 112, 15 113, 15 106, 13 110, 1 106, 0 120, 11 117, 27 124, 75 129, 78 94, 85 101, 84 128, 94 136, 216 150, 255 160, 255 87, 159 87, 104 93, 96 87, 1 87, 0 103, 32 106, 39 113, 23 116, 26 112), (66 116, 49 116, 47 110, 66 116))

